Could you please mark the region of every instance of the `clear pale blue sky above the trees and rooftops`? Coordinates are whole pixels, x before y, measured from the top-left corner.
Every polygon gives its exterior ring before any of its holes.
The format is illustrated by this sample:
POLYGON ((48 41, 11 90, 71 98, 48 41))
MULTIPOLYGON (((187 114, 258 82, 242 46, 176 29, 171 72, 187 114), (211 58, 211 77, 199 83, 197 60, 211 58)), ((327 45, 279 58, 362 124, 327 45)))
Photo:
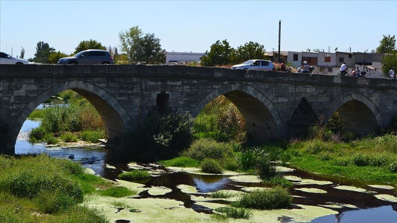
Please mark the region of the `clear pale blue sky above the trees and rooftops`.
MULTIPOLYGON (((0 0, 0 51, 33 57, 37 42, 70 54, 83 40, 118 46, 138 25, 162 48, 205 52, 216 40, 278 50, 372 50, 397 34, 397 1, 9 1, 0 0)), ((119 48, 120 49, 120 48, 119 48)))

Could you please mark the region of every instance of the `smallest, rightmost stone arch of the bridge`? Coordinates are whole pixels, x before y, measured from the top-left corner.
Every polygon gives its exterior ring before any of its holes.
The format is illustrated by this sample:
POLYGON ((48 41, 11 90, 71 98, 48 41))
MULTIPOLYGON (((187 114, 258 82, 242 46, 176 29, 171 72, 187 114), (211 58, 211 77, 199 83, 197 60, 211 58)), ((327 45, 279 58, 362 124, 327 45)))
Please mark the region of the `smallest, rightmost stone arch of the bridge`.
POLYGON ((325 121, 336 111, 345 127, 356 135, 379 133, 379 128, 385 127, 378 107, 362 94, 349 94, 335 102, 326 112, 325 121))

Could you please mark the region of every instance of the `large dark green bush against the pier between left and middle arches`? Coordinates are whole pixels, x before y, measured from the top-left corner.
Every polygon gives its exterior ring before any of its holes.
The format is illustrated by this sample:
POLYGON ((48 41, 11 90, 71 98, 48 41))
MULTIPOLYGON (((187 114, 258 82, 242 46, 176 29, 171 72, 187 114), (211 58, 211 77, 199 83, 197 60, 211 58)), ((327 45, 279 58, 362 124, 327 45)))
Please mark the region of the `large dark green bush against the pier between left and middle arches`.
POLYGON ((174 158, 187 148, 192 140, 190 125, 193 119, 188 112, 168 115, 150 115, 143 123, 119 140, 110 140, 125 157, 139 161, 157 161, 174 158))

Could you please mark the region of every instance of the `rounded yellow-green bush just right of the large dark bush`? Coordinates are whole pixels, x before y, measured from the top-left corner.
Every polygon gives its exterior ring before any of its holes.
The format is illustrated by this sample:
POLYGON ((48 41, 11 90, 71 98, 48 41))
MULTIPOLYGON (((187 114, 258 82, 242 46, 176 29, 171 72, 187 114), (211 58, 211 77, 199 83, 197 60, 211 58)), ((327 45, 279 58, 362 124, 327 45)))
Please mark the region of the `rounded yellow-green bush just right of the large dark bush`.
POLYGON ((195 140, 189 149, 183 151, 182 154, 195 160, 204 160, 205 158, 221 159, 224 156, 231 156, 233 151, 229 144, 216 142, 213 139, 200 138, 195 140))

